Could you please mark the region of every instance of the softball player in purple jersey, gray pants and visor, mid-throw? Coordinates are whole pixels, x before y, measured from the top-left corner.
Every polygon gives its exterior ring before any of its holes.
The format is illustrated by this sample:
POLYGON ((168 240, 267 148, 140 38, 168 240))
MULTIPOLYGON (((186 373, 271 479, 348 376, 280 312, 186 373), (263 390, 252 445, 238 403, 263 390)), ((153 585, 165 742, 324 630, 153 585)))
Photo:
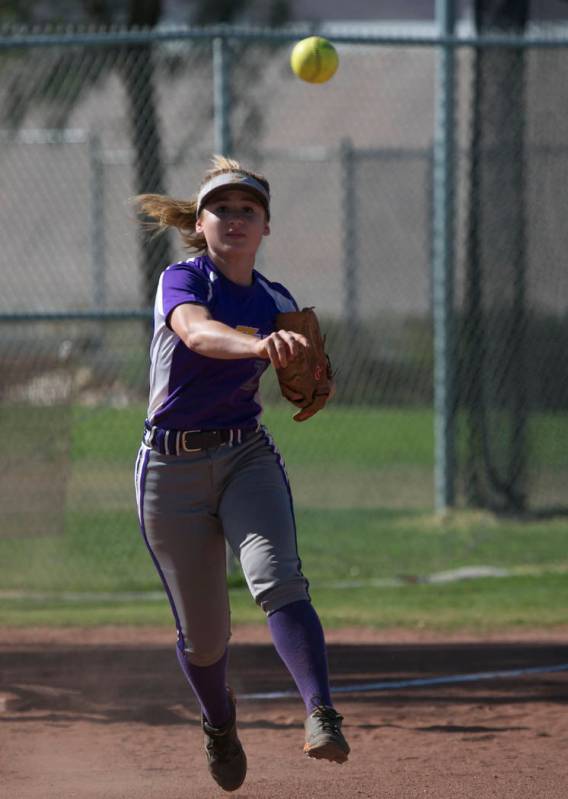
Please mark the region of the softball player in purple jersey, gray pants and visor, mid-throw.
POLYGON ((177 627, 178 659, 201 706, 209 771, 233 791, 247 768, 227 687, 225 541, 305 703, 305 753, 343 763, 349 746, 301 571, 290 486, 260 424, 262 373, 308 346, 302 335, 274 329, 276 314, 297 305, 254 269, 270 232, 269 184, 215 156, 195 199, 146 194, 136 204, 158 230, 177 228, 198 253, 160 277, 135 481, 142 535, 177 627))

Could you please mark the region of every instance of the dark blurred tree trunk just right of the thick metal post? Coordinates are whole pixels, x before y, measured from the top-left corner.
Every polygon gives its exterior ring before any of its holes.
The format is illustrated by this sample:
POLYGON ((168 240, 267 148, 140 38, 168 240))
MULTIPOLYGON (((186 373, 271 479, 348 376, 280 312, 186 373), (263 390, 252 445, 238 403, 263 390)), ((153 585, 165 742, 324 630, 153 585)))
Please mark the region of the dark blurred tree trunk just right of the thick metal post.
MULTIPOLYGON (((473 7, 481 35, 521 35, 529 19, 529 0, 473 7)), ((527 475, 525 59, 520 48, 473 55, 461 374, 468 502, 516 512, 525 510, 527 475)))

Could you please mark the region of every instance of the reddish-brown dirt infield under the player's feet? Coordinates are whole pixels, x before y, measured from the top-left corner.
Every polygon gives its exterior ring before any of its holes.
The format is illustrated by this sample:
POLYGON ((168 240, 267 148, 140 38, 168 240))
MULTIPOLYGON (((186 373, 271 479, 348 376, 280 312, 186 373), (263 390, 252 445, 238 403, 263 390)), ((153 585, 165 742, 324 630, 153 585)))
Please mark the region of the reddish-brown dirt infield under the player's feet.
MULTIPOLYGON (((568 628, 476 640, 328 633, 334 687, 568 663, 568 628)), ((265 628, 231 649, 249 773, 242 799, 565 799, 568 672, 340 692, 347 764, 302 755, 299 699, 265 628)), ((193 799, 210 780, 197 707, 164 630, 0 631, 0 793, 6 799, 193 799)))

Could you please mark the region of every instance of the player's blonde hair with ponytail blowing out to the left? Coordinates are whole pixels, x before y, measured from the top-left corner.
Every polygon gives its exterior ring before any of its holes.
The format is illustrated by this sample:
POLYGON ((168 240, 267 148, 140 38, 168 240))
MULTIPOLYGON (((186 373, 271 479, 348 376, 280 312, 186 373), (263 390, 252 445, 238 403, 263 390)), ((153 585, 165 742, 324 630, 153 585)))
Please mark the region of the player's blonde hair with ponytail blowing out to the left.
MULTIPOLYGON (((239 172, 242 175, 255 178, 270 192, 270 186, 266 178, 257 173, 244 169, 238 161, 233 158, 226 158, 224 155, 214 155, 211 159, 212 166, 205 175, 199 188, 204 186, 211 178, 223 175, 226 172, 239 172)), ((199 193, 199 192, 198 192, 199 193)), ((197 233, 195 223, 197 222, 197 194, 190 200, 177 200, 164 194, 138 194, 132 199, 139 215, 146 219, 141 224, 157 234, 163 233, 170 227, 176 228, 182 238, 184 246, 188 250, 205 252, 207 242, 203 233, 197 233)))

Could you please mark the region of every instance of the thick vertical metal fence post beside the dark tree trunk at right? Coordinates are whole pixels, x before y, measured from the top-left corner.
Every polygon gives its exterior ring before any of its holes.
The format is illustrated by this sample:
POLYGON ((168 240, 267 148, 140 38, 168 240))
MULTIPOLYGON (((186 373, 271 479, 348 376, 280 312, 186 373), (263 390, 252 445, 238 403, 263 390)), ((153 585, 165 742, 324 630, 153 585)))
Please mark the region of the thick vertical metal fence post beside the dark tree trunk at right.
MULTIPOLYGON (((455 0, 436 0, 440 36, 455 28, 455 0)), ((454 375, 454 49, 441 44, 436 70, 433 264, 435 505, 455 502, 454 375)))

